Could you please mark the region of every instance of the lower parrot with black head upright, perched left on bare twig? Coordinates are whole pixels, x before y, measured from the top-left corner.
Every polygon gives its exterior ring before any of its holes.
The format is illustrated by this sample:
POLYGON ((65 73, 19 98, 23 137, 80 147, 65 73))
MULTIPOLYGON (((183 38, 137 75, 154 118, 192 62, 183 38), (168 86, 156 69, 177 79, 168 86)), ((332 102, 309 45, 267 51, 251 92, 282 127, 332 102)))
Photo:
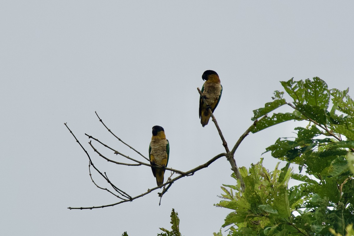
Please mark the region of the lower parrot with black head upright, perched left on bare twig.
POLYGON ((153 127, 153 137, 151 138, 149 146, 149 159, 154 177, 156 177, 157 186, 161 186, 164 183, 165 167, 169 163, 170 156, 170 143, 166 139, 165 130, 161 126, 153 127), (158 164, 162 167, 155 166, 158 164))

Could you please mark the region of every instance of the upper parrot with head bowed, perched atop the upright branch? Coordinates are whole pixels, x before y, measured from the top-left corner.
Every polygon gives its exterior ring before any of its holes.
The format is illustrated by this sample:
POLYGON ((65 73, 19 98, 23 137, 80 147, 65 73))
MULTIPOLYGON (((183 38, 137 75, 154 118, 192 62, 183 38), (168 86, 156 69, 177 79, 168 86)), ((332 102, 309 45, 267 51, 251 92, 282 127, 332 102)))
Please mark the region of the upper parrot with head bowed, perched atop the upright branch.
POLYGON ((205 80, 201 92, 205 98, 207 104, 203 102, 202 97, 199 99, 199 118, 202 126, 206 126, 209 122, 211 114, 209 114, 208 108, 210 107, 211 111, 214 113, 215 108, 219 104, 222 86, 220 84, 220 79, 218 74, 213 70, 204 71, 201 76, 205 80))

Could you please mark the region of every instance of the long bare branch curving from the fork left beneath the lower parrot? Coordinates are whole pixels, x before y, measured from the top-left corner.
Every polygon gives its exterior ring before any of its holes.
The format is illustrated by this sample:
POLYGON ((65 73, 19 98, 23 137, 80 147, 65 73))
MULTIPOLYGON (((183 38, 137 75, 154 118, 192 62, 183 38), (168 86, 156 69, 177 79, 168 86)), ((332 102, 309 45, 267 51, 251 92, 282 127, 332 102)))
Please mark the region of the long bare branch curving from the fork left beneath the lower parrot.
MULTIPOLYGON (((195 168, 191 169, 190 171, 185 172, 185 175, 179 175, 179 176, 177 176, 176 178, 167 181, 167 182, 164 183, 162 186, 167 185, 167 184, 171 184, 171 183, 175 182, 176 180, 178 180, 178 179, 180 179, 180 178, 183 178, 184 176, 191 176, 191 175, 193 175, 195 172, 199 171, 200 169, 203 169, 203 168, 208 167, 211 163, 213 163, 214 161, 216 161, 217 159, 219 159, 220 157, 223 157, 223 156, 226 156, 226 153, 221 153, 221 154, 219 154, 219 155, 216 155, 215 157, 213 157, 212 159, 210 159, 210 160, 207 161, 206 163, 204 163, 204 164, 202 164, 202 165, 200 165, 200 166, 198 166, 198 167, 195 167, 195 168)), ((99 206, 99 207, 68 207, 68 209, 70 209, 70 210, 71 210, 71 209, 81 209, 81 210, 82 210, 82 209, 93 209, 93 208, 111 207, 111 206, 115 206, 115 205, 118 205, 118 204, 123 203, 123 202, 130 202, 130 201, 133 201, 133 200, 135 200, 135 199, 137 199, 137 198, 139 198, 139 197, 143 197, 143 196, 149 194, 150 192, 152 192, 152 191, 154 191, 154 190, 156 190, 156 189, 160 189, 160 188, 161 188, 161 186, 157 186, 157 187, 155 187, 155 188, 153 188, 153 189, 148 189, 147 192, 144 192, 144 193, 141 194, 141 195, 132 197, 132 198, 127 199, 127 200, 124 200, 124 201, 116 202, 116 203, 113 203, 113 204, 110 204, 110 205, 104 205, 104 206, 99 206)))

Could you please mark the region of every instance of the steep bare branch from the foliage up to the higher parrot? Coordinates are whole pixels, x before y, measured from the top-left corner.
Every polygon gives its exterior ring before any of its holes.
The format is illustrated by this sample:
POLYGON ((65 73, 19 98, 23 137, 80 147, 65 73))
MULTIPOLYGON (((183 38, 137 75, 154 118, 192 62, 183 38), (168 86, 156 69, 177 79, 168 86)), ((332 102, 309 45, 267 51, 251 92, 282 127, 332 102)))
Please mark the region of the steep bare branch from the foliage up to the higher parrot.
MULTIPOLYGON (((202 92, 200 91, 200 89, 197 88, 197 90, 198 90, 198 92, 199 92, 199 94, 200 94, 200 98, 203 99, 203 102, 204 102, 205 104, 209 105, 209 104, 206 102, 206 99, 203 97, 203 94, 202 94, 202 92)), ((229 147, 227 146, 227 142, 226 142, 226 140, 225 140, 225 138, 224 138, 224 136, 223 136, 223 134, 222 134, 222 132, 221 132, 221 129, 220 129, 219 125, 218 125, 218 122, 217 122, 216 119, 215 119, 214 114, 212 113, 212 111, 211 111, 211 109, 210 109, 210 106, 208 107, 208 112, 209 112, 209 114, 211 115, 212 121, 215 123, 215 126, 216 126, 216 128, 217 128, 217 130, 218 130, 218 132, 219 132, 219 136, 220 136, 220 138, 221 138, 221 140, 222 140, 223 146, 224 146, 225 151, 226 151, 226 153, 227 153, 226 158, 227 158, 227 160, 230 162, 231 169, 232 169, 232 171, 235 173, 236 178, 240 181, 241 191, 244 192, 244 191, 245 191, 245 182, 244 182, 244 180, 243 180, 243 178, 242 178, 242 175, 241 175, 241 173, 240 173, 240 171, 239 171, 239 168, 238 168, 237 165, 236 165, 236 161, 235 161, 235 158, 234 158, 234 153, 230 152, 229 147)))

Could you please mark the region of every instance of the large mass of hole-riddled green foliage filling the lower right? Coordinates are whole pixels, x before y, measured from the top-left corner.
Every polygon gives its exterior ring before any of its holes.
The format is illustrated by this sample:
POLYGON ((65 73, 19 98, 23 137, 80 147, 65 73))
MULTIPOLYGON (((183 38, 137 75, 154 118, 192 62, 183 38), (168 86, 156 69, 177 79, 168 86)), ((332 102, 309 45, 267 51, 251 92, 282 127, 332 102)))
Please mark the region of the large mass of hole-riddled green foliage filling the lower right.
POLYGON ((248 170, 240 168, 244 192, 239 183, 221 187, 224 199, 217 206, 233 210, 223 227, 228 227, 228 235, 352 235, 348 225, 354 224, 354 102, 349 89, 329 90, 318 77, 281 84, 292 101, 275 91, 273 102, 254 110, 252 120, 282 105, 293 112, 262 117, 252 132, 288 120, 309 125, 295 128, 297 137, 279 138, 266 148, 286 162, 284 168, 278 163, 269 172, 261 159, 248 170), (293 173, 290 164, 300 172, 293 173), (289 186, 290 179, 298 184, 289 186))

